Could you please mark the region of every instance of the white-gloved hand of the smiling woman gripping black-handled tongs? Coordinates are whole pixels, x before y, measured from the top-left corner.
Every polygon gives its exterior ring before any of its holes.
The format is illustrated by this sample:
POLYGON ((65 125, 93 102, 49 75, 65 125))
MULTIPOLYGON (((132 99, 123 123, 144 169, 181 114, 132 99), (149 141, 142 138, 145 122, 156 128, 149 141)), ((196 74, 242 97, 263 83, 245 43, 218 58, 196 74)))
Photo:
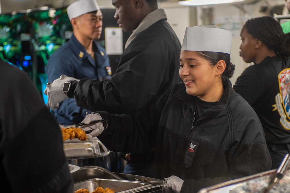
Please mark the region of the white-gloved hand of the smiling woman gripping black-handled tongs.
MULTIPOLYGON (((87 125, 80 126, 80 128, 83 131, 93 130, 91 133, 87 134, 87 137, 89 139, 92 139, 93 137, 97 137, 105 129, 103 126, 103 122, 89 124, 92 121, 97 121, 97 120, 101 120, 101 119, 102 119, 102 117, 100 116, 100 114, 96 113, 96 114, 89 114, 86 117, 84 117, 84 120, 82 120, 81 123, 87 124, 87 125)), ((107 124, 105 127, 107 128, 107 124)))

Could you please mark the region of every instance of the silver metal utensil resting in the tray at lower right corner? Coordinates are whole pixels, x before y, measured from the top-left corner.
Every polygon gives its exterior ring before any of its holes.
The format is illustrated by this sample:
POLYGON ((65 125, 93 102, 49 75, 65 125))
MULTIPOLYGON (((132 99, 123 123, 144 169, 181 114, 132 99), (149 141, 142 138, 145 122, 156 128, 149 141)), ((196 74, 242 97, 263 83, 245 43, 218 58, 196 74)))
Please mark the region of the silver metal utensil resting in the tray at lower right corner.
POLYGON ((283 178, 284 174, 287 172, 290 165, 290 156, 286 154, 280 167, 277 169, 276 174, 270 179, 269 185, 260 191, 260 193, 268 193, 275 184, 279 182, 280 179, 283 178))

